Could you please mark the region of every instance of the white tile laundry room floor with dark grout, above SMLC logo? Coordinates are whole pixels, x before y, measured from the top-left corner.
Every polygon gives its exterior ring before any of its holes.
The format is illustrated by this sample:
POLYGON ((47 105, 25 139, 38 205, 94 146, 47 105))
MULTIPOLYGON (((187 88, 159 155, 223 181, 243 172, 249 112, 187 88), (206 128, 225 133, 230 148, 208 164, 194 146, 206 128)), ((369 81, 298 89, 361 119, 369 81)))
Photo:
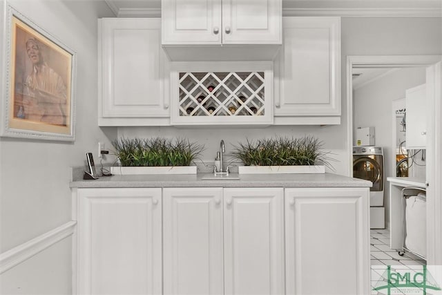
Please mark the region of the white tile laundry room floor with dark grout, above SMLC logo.
POLYGON ((405 252, 390 249, 390 231, 388 229, 370 229, 370 258, 372 265, 425 265, 426 261, 405 252))

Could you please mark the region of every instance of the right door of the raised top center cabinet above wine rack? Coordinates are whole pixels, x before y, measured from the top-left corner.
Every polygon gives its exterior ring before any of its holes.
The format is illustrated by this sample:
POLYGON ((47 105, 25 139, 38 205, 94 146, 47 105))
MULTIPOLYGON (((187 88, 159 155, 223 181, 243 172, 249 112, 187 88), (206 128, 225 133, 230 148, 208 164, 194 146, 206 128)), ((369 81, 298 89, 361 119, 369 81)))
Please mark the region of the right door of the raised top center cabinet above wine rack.
POLYGON ((223 44, 281 44, 281 0, 223 0, 223 44))

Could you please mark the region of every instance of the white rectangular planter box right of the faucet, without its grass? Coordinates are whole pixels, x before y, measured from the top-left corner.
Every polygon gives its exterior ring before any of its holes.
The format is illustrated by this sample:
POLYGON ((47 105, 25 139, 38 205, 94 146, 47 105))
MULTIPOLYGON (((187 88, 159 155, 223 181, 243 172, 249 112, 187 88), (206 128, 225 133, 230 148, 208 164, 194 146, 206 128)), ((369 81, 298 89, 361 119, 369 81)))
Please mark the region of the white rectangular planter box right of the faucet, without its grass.
POLYGON ((325 173, 325 166, 238 166, 240 174, 300 174, 300 173, 325 173))

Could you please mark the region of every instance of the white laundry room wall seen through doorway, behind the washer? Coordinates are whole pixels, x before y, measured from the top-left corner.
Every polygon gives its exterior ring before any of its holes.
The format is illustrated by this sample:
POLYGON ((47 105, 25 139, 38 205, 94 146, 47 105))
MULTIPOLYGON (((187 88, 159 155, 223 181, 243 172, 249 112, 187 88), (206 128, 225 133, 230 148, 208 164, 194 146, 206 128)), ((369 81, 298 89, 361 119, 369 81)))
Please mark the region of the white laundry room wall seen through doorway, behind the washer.
MULTIPOLYGON (((425 68, 401 68, 357 88, 353 93, 354 140, 358 127, 372 126, 375 129, 375 145, 384 149, 384 205, 387 225, 390 223, 390 187, 386 179, 396 176, 396 171, 392 169, 392 163, 396 161, 392 155, 396 149, 392 142, 392 137, 395 136, 392 126, 392 101, 404 98, 406 89, 420 84, 425 84, 425 68)), ((417 158, 420 158, 420 155, 419 153, 417 158)), ((422 177, 425 178, 425 169, 419 169, 420 173, 422 171, 422 177)))

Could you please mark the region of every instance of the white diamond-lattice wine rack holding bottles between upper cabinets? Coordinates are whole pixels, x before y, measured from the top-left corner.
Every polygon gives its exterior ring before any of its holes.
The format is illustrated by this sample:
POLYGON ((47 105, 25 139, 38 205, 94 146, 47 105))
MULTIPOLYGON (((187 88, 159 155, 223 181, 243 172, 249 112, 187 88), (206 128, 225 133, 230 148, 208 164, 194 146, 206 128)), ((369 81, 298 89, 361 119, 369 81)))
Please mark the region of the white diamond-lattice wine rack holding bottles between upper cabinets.
POLYGON ((271 65, 234 65, 236 71, 222 69, 229 63, 215 66, 213 71, 173 70, 171 123, 273 124, 271 65))

